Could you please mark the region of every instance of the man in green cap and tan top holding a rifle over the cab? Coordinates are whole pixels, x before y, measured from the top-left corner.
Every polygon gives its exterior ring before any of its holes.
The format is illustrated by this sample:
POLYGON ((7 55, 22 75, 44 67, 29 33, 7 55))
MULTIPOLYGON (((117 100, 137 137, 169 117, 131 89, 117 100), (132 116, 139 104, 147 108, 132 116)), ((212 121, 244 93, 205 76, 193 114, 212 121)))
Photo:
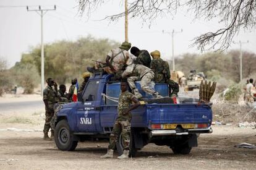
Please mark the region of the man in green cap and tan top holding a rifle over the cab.
POLYGON ((106 64, 96 62, 95 67, 87 67, 89 72, 94 72, 95 69, 103 68, 108 74, 115 74, 124 67, 130 57, 128 50, 130 43, 124 42, 119 48, 111 49, 106 56, 106 64))

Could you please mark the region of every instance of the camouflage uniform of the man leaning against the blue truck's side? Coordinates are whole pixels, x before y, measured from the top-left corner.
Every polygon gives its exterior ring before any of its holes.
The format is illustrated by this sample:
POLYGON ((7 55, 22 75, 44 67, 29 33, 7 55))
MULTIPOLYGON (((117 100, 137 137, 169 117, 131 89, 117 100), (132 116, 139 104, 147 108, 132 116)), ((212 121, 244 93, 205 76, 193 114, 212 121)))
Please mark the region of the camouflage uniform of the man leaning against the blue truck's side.
POLYGON ((113 130, 109 137, 109 150, 116 148, 117 137, 122 133, 122 140, 124 141, 124 150, 129 150, 130 147, 130 121, 132 114, 124 114, 126 109, 129 109, 129 105, 132 104, 132 98, 134 95, 129 91, 121 92, 118 102, 118 117, 114 122, 113 130))

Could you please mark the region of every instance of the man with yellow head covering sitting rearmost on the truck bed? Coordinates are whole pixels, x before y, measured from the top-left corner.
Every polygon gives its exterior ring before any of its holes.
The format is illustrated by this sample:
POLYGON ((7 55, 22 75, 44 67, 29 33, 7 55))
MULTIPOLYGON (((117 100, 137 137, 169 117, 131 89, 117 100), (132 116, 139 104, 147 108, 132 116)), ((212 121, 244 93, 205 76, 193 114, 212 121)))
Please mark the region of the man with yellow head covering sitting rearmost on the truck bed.
POLYGON ((171 80, 171 74, 169 70, 169 64, 167 61, 163 61, 160 58, 160 51, 155 50, 150 53, 153 60, 150 64, 150 69, 155 72, 155 83, 168 83, 169 85, 169 96, 177 96, 179 92, 179 84, 171 80))

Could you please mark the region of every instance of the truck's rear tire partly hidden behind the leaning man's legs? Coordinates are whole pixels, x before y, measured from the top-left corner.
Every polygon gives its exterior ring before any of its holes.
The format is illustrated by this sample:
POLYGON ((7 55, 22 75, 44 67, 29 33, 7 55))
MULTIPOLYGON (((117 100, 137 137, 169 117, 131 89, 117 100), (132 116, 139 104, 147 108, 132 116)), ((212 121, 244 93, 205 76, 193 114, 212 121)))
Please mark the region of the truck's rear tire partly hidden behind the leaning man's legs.
MULTIPOLYGON (((135 148, 135 141, 134 141, 134 133, 133 130, 130 130, 130 151, 129 156, 134 157, 137 153, 137 149, 135 148)), ((116 142, 116 149, 118 155, 121 156, 124 151, 124 142, 122 141, 122 134, 119 135, 117 142, 116 142)))

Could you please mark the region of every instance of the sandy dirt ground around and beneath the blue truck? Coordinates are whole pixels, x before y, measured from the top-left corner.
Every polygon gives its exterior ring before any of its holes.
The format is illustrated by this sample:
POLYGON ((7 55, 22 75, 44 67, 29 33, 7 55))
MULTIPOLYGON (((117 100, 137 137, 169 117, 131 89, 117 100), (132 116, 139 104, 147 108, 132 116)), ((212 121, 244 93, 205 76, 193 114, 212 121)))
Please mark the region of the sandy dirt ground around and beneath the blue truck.
MULTIPOLYGON (((20 100, 23 99, 20 96, 20 100)), ((41 100, 35 96, 33 100, 41 100)), ((0 103, 17 102, 17 98, 0 103)), ((108 142, 80 142, 75 151, 59 151, 54 141, 42 140, 43 107, 20 112, 0 108, 0 169, 255 169, 256 129, 237 125, 213 125, 213 134, 198 138, 189 155, 174 155, 170 148, 149 144, 127 160, 101 159, 108 142)))

